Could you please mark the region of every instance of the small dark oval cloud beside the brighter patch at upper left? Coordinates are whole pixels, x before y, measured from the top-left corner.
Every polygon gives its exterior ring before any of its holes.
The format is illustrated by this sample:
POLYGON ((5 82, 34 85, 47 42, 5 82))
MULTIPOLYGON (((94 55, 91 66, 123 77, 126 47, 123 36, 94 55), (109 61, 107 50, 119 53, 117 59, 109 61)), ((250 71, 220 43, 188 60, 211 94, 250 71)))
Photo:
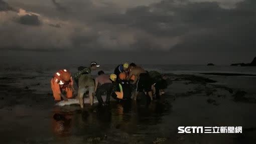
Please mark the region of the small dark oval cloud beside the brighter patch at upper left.
POLYGON ((20 17, 19 23, 23 24, 23 25, 31 25, 31 26, 39 26, 39 25, 41 25, 41 22, 38 19, 38 16, 36 16, 36 15, 28 15, 28 14, 25 15, 25 16, 20 17))

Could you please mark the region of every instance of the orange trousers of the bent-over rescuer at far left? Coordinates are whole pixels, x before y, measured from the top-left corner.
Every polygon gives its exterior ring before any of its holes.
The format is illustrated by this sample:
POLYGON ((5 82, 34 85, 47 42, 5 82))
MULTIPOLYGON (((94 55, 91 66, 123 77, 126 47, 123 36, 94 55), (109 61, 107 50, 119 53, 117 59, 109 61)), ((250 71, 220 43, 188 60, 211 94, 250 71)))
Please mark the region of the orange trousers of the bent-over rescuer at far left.
POLYGON ((66 92, 67 98, 72 98, 73 96, 72 88, 68 88, 68 87, 61 88, 60 85, 57 82, 55 82, 55 80, 56 80, 55 77, 51 79, 51 88, 52 88, 54 100, 61 100, 60 94, 62 91, 66 92))

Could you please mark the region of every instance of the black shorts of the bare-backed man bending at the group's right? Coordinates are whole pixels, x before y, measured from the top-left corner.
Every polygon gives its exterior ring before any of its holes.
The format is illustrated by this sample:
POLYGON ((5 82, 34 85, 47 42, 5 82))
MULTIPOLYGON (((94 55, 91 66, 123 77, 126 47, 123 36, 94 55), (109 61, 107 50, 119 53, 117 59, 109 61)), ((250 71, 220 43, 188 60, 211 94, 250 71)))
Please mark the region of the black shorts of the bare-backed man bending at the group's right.
POLYGON ((136 91, 138 92, 149 92, 152 91, 151 90, 151 86, 152 86, 152 80, 149 76, 149 74, 147 73, 141 73, 138 81, 137 81, 137 88, 136 91))

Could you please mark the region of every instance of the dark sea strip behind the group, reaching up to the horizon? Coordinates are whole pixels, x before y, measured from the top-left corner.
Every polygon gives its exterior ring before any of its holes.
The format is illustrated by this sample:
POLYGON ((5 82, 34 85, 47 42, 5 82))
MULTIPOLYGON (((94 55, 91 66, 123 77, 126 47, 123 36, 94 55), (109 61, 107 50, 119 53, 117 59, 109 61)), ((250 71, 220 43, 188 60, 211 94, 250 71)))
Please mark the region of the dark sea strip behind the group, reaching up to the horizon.
MULTIPOLYGON (((31 89, 36 90, 37 93, 49 93, 50 89, 50 79, 58 69, 68 69, 72 74, 77 72, 77 64, 4 64, 1 66, 0 73, 2 78, 13 78, 14 83, 9 83, 8 85, 17 87, 29 86, 31 89), (38 89, 37 84, 40 84, 40 89, 38 89)), ((99 70, 103 70, 107 74, 111 74, 117 65, 113 64, 102 64, 100 68, 92 71, 92 75, 96 76, 99 70)), ((226 74, 250 74, 256 75, 256 67, 239 67, 239 66, 206 66, 206 65, 139 65, 148 71, 158 71, 162 74, 190 74, 190 75, 200 75, 207 78, 217 79, 219 83, 225 80, 240 80, 249 79, 249 81, 244 80, 244 82, 249 83, 255 80, 255 76, 214 76, 214 75, 204 75, 201 73, 226 73, 226 74)), ((3 83, 4 84, 4 83, 3 83)), ((232 84, 232 82, 230 83, 232 84)))

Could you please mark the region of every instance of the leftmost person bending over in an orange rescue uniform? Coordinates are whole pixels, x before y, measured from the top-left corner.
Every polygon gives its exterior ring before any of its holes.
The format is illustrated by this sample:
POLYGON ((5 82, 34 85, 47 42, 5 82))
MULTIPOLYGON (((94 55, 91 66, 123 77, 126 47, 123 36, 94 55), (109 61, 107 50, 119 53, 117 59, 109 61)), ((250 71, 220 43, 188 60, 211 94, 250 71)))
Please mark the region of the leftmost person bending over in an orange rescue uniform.
POLYGON ((51 88, 55 101, 60 101, 61 97, 66 101, 72 98, 74 88, 71 73, 67 69, 56 72, 51 79, 51 88), (66 97, 62 92, 66 93, 66 97))

